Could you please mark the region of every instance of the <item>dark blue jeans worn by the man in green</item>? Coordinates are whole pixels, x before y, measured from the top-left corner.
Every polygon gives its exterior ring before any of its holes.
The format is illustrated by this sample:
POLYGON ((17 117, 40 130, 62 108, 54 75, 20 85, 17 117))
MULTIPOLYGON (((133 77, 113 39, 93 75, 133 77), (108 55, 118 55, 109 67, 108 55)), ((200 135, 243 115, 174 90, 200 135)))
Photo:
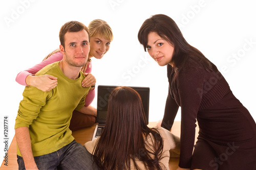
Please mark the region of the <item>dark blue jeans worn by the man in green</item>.
MULTIPOLYGON (((23 158, 17 155, 18 169, 25 170, 23 158)), ((75 140, 60 148, 60 150, 34 157, 37 168, 40 169, 98 169, 93 164, 92 155, 75 140)))

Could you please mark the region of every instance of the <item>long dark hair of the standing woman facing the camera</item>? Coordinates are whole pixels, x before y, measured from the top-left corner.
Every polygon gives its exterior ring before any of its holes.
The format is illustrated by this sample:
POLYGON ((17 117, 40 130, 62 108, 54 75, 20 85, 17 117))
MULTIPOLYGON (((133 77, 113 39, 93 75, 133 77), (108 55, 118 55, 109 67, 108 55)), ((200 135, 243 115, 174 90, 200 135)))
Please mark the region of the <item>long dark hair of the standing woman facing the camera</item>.
POLYGON ((187 67, 203 68, 208 72, 217 71, 217 67, 198 49, 188 44, 177 24, 169 16, 157 14, 144 21, 139 30, 138 39, 145 51, 148 42, 147 36, 151 32, 156 32, 174 46, 172 62, 177 73, 187 67))

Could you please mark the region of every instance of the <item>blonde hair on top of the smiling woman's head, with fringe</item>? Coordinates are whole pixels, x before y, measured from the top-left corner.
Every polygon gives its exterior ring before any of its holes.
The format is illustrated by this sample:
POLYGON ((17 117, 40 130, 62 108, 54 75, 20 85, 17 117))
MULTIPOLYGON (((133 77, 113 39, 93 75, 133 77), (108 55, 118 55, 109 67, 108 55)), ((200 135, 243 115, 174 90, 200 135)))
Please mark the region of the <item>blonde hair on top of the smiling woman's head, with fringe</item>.
POLYGON ((88 25, 90 36, 98 35, 101 38, 113 40, 113 32, 108 23, 101 19, 94 19, 88 25))

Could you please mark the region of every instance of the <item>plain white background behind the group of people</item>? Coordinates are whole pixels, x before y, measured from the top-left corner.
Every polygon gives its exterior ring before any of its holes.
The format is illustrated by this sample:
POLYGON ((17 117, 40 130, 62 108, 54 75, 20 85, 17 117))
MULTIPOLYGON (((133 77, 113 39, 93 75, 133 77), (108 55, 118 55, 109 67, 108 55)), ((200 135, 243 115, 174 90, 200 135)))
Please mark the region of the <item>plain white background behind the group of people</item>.
MULTIPOLYGON (((154 14, 172 17, 188 43, 198 48, 222 72, 234 95, 256 120, 256 10, 253 1, 39 1, 0 2, 1 98, 0 152, 4 156, 4 116, 8 116, 9 144, 24 87, 17 73, 40 62, 58 48, 60 27, 78 20, 109 23, 114 40, 100 60, 93 58, 98 84, 151 88, 150 121, 162 118, 167 96, 166 67, 144 52, 137 34, 154 14)), ((96 106, 96 100, 92 103, 96 106)), ((178 113, 176 120, 180 120, 178 113)))

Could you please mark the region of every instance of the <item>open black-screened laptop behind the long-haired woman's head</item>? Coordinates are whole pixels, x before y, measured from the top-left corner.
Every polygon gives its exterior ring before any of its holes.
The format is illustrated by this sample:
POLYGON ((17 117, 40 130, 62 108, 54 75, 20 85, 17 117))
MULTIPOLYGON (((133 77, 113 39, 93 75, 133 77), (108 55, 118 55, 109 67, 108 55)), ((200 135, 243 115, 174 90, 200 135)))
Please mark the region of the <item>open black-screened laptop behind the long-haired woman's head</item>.
MULTIPOLYGON (((96 117, 96 126, 93 133, 92 140, 98 138, 104 129, 106 122, 106 115, 108 112, 108 101, 111 92, 117 88, 118 86, 98 86, 98 94, 97 94, 97 117, 96 117)), ((146 123, 148 124, 148 115, 149 115, 149 107, 150 107, 150 88, 148 87, 130 87, 136 90, 142 100, 143 109, 145 112, 146 123)))

